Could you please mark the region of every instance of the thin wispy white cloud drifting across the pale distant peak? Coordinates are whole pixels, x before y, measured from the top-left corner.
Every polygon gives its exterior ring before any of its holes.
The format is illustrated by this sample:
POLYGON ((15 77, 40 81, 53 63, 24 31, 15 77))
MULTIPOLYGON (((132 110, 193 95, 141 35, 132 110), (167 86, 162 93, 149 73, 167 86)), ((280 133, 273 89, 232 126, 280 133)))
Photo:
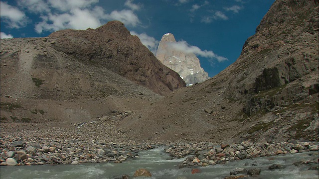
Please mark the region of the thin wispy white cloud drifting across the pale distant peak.
POLYGON ((201 50, 199 47, 189 45, 186 41, 170 42, 167 44, 170 48, 184 53, 194 53, 201 57, 216 59, 218 62, 228 60, 225 57, 216 55, 213 51, 201 50))

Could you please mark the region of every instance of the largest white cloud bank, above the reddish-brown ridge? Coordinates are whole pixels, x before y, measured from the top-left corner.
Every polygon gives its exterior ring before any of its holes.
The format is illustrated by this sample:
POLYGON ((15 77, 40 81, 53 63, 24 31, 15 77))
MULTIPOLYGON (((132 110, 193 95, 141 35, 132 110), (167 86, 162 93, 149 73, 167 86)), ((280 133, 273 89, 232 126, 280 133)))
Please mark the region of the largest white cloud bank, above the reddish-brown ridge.
MULTIPOLYGON (((32 9, 32 3, 36 0, 25 0, 29 2, 29 9, 32 9)), ((43 0, 38 0, 43 2, 43 0)), ((98 0, 48 0, 47 6, 49 12, 42 14, 42 21, 36 23, 35 31, 56 31, 61 29, 87 29, 97 28, 107 20, 119 20, 125 25, 137 26, 140 19, 132 11, 123 9, 114 10, 111 13, 105 13, 101 6, 93 6, 98 0)), ((132 1, 128 0, 132 4, 132 1)), ((40 13, 41 9, 34 8, 34 13, 40 13)), ((43 9, 42 9, 43 12, 43 9)))

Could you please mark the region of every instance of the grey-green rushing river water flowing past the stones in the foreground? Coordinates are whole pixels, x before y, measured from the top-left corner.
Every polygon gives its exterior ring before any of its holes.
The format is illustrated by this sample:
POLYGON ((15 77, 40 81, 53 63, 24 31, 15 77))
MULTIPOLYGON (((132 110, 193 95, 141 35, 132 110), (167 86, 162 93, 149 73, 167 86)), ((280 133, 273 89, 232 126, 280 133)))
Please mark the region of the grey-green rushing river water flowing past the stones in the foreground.
POLYGON ((259 179, 318 179, 318 171, 309 171, 309 164, 296 167, 292 165, 298 161, 318 161, 318 152, 301 154, 287 154, 272 157, 246 159, 229 162, 225 165, 215 165, 199 168, 201 173, 191 174, 189 168, 178 169, 183 159, 166 160, 168 154, 163 148, 139 153, 140 158, 129 160, 122 164, 101 163, 82 165, 43 165, 43 166, 19 166, 0 167, 1 179, 114 179, 122 175, 134 175, 140 168, 146 168, 152 173, 152 178, 143 179, 176 179, 186 177, 187 179, 223 179, 229 172, 236 168, 260 168, 262 172, 259 179), (268 170, 272 164, 280 164, 284 169, 268 170), (246 164, 246 166, 245 166, 246 164), (252 166, 252 164, 257 165, 252 166))

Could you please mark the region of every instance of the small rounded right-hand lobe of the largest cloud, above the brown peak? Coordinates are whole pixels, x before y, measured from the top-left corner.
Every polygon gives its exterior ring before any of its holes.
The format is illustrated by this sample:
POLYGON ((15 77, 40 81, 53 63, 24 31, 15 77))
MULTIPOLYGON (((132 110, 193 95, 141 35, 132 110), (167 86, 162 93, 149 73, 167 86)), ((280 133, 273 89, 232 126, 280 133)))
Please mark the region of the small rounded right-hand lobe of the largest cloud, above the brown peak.
POLYGON ((106 17, 110 20, 119 20, 125 25, 137 26, 141 23, 139 17, 132 10, 127 9, 121 11, 114 10, 110 14, 107 14, 106 17))

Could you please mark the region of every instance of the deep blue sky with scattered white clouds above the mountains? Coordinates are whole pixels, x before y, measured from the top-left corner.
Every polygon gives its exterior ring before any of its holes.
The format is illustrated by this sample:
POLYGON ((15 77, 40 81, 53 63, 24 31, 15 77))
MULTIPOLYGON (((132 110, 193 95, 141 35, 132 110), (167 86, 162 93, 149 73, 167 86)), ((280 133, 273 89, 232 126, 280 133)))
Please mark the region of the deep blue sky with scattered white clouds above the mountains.
POLYGON ((156 53, 172 33, 209 77, 239 57, 275 0, 1 0, 1 38, 44 37, 120 20, 156 53))

